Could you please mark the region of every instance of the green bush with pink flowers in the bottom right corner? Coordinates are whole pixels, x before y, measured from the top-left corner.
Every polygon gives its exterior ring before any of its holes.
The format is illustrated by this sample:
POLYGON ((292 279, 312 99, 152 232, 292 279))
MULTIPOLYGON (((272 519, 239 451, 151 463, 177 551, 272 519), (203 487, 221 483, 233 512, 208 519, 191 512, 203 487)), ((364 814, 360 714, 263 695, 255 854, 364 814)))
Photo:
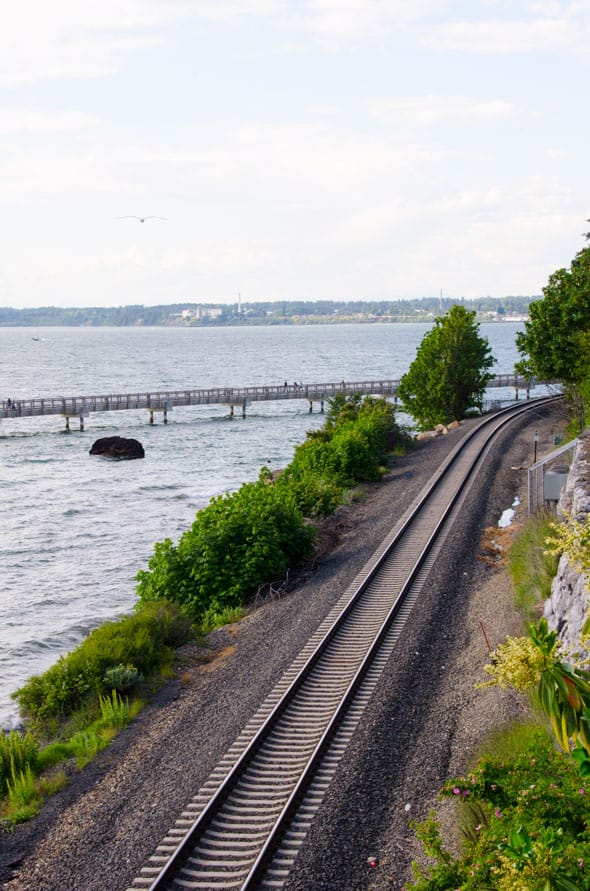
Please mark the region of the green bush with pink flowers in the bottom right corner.
POLYGON ((414 865, 408 891, 587 888, 589 793, 572 759, 544 731, 536 731, 513 757, 484 756, 472 773, 446 783, 441 792, 479 815, 462 855, 454 858, 444 848, 431 815, 416 828, 435 862, 414 865))

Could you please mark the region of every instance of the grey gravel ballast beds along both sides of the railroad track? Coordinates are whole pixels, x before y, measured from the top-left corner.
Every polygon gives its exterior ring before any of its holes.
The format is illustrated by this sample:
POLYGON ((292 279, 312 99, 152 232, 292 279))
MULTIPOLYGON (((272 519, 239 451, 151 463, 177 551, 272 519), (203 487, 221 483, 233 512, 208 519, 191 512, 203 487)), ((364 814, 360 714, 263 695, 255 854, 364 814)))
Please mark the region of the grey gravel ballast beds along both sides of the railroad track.
MULTIPOLYGON (((131 727, 31 823, 0 831, 9 891, 124 891, 266 698, 309 635, 473 422, 395 459, 387 477, 339 510, 332 547, 296 590, 186 648, 176 677, 131 727), (204 660, 204 656, 209 661, 204 660), (214 657, 214 658, 211 658, 214 657)), ((519 713, 514 695, 475 690, 487 645, 520 633, 501 565, 478 559, 483 529, 520 498, 526 513, 533 431, 538 455, 562 434, 563 409, 538 409, 500 436, 414 608, 337 782, 296 861, 288 891, 404 887, 419 848, 409 828, 486 733, 519 713), (480 624, 481 623, 481 624, 480 624), (371 867, 368 858, 376 857, 371 867)), ((328 537, 329 538, 329 537, 328 537)), ((328 540, 328 539, 327 539, 328 540)))

